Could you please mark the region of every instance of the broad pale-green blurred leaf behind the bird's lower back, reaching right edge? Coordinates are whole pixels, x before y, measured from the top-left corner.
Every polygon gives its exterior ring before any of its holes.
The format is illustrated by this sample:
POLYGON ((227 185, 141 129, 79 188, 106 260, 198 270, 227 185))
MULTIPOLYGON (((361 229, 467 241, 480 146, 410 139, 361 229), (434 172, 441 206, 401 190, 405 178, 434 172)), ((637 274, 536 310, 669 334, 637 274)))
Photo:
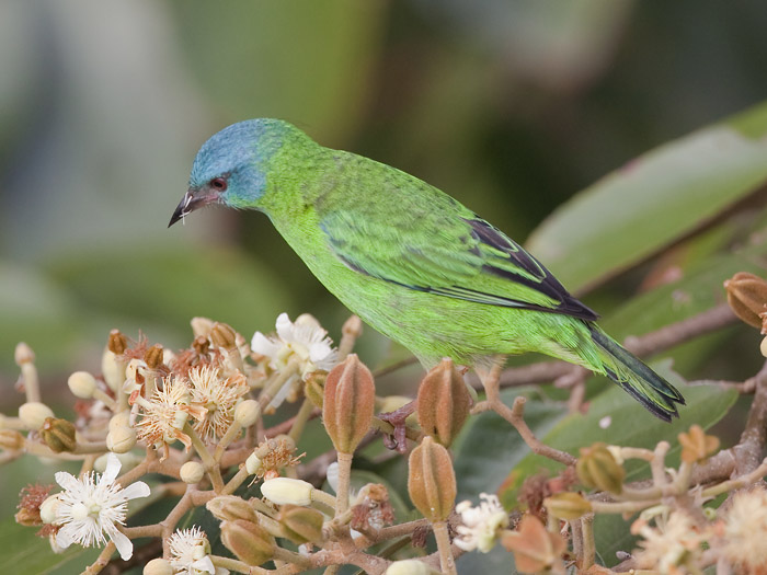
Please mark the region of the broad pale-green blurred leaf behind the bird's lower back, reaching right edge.
POLYGON ((764 185, 767 140, 753 134, 764 136, 764 115, 760 106, 736 128, 716 125, 641 156, 557 209, 527 248, 573 291, 656 253, 764 185))

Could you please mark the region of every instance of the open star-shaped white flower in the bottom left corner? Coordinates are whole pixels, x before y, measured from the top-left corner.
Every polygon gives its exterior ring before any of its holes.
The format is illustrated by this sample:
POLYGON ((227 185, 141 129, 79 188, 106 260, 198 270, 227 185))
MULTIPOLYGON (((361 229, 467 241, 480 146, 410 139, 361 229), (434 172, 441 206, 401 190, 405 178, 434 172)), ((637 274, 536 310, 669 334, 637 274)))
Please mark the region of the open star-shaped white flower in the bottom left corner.
POLYGON ((77 479, 59 471, 56 482, 64 491, 58 494, 56 525, 61 528, 56 533, 56 544, 67 549, 72 543, 82 547, 103 545, 106 536, 114 542, 119 556, 130 559, 134 545, 115 524, 125 525, 128 499, 147 497, 149 486, 137 481, 123 488, 115 483, 121 463, 117 456, 108 455, 106 470, 99 476, 94 472, 77 479))

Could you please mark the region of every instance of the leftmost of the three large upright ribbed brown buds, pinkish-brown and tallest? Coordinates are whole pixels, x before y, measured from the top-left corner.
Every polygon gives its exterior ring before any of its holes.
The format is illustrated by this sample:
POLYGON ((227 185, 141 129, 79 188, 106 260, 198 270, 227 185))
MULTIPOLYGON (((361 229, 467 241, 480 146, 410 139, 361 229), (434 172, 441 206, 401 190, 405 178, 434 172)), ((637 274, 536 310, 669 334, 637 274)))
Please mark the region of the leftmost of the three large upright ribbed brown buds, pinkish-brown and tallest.
POLYGON ((354 453, 370 428, 375 403, 373 373, 356 354, 328 373, 322 421, 337 451, 354 453))

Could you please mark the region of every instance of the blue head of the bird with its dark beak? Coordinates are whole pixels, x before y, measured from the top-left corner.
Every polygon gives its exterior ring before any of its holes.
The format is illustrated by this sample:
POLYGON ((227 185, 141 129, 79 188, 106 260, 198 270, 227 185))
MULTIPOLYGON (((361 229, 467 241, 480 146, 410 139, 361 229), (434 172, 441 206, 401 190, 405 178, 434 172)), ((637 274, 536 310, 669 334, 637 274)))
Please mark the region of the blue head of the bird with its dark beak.
POLYGON ((259 118, 232 124, 213 136, 197 152, 188 189, 169 227, 208 204, 257 207, 266 191, 270 160, 285 136, 296 131, 286 122, 259 118))

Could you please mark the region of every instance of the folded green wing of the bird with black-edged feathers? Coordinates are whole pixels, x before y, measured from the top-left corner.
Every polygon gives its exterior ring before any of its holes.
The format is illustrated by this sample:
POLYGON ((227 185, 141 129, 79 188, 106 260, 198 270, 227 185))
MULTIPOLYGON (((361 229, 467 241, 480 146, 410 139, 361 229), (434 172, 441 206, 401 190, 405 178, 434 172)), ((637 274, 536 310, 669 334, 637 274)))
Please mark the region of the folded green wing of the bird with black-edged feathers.
POLYGON ((412 206, 360 205, 321 219, 348 267, 410 289, 468 301, 595 320, 535 257, 448 196, 412 206))

